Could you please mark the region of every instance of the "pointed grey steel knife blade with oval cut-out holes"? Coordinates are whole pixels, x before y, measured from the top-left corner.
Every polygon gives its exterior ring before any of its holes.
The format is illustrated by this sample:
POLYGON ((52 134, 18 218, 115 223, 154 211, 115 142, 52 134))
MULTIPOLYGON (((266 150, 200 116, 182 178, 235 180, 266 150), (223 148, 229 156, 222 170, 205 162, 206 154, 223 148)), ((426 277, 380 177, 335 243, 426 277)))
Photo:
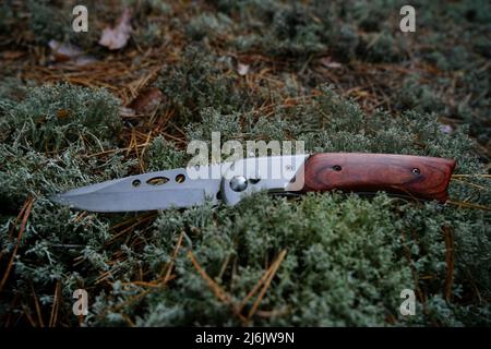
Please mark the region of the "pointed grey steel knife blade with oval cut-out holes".
MULTIPOLYGON (((225 170, 229 164, 206 167, 225 170)), ((93 212, 133 212, 217 203, 221 179, 190 179, 187 169, 148 172, 106 181, 55 195, 52 201, 93 212)))

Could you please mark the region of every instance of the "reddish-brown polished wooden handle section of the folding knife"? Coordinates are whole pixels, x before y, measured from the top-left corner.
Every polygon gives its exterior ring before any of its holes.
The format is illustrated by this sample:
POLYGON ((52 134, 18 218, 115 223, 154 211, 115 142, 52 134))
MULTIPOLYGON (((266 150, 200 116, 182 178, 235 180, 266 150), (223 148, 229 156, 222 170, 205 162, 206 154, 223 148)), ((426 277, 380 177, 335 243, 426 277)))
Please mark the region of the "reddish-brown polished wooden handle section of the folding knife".
POLYGON ((387 191, 445 202, 455 160, 438 157, 321 153, 304 164, 303 192, 387 191))

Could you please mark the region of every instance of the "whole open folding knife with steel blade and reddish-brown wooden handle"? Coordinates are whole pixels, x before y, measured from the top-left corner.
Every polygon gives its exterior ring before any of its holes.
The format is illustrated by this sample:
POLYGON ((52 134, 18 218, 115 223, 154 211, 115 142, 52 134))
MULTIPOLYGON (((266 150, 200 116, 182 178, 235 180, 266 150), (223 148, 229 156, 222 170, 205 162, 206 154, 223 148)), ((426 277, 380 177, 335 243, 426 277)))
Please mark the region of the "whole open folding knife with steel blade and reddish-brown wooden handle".
POLYGON ((454 168, 453 159, 392 154, 252 157, 130 176, 51 200, 92 212, 132 212, 191 207, 206 201, 236 205, 256 191, 302 194, 342 190, 386 191, 444 203, 454 168))

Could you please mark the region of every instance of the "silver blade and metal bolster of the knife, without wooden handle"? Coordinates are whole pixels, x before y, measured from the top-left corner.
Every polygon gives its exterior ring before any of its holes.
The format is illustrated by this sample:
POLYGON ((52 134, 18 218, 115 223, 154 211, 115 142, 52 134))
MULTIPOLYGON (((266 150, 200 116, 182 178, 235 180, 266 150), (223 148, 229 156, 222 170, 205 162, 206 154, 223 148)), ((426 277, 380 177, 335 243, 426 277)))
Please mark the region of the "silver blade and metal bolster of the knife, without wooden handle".
POLYGON ((303 185, 309 155, 246 158, 197 168, 178 168, 106 181, 51 197, 53 202, 92 212, 132 212, 197 206, 220 198, 236 205, 266 190, 296 192, 303 185), (200 173, 200 174, 196 174, 200 173))

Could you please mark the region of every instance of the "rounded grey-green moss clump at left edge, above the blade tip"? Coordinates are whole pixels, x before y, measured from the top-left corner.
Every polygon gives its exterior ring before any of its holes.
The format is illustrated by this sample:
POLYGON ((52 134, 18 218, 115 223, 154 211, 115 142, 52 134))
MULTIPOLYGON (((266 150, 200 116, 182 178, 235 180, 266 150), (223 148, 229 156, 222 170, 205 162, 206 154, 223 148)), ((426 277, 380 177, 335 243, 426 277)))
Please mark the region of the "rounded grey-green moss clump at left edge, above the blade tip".
POLYGON ((5 110, 0 127, 4 139, 21 140, 41 152, 75 143, 100 149, 117 143, 119 106, 105 89, 70 84, 34 87, 24 100, 5 110))

